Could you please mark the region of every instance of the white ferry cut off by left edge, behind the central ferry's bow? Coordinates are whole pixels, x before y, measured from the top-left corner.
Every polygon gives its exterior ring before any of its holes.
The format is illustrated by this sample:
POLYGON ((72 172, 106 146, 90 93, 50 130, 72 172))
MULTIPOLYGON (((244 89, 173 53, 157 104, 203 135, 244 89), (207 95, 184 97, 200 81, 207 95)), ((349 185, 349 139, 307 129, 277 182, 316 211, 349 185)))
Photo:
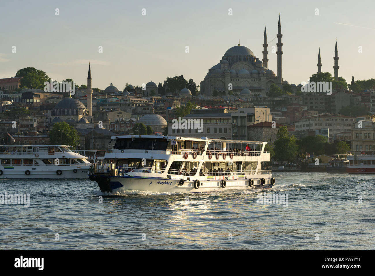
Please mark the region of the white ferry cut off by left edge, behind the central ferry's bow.
POLYGON ((67 145, 0 145, 0 178, 86 178, 90 165, 67 145))

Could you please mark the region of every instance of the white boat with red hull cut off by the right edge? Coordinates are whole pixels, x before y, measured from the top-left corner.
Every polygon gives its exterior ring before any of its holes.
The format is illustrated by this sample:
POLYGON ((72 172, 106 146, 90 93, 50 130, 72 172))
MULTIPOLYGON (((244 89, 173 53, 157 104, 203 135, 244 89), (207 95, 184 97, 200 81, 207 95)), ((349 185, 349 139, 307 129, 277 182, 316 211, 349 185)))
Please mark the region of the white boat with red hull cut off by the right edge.
POLYGON ((348 155, 348 172, 351 174, 374 174, 375 154, 374 151, 352 151, 348 155))

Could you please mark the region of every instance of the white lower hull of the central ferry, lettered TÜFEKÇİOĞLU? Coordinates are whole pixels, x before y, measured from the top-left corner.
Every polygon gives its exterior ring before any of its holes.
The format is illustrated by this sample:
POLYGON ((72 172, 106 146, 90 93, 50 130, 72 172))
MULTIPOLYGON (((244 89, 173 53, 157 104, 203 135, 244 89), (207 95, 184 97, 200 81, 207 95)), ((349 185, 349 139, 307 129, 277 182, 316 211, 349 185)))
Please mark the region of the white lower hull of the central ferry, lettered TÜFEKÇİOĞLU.
POLYGON ((198 189, 194 187, 195 180, 185 180, 179 186, 180 179, 168 178, 136 178, 136 177, 114 177, 104 175, 91 175, 92 181, 97 181, 102 192, 123 192, 126 190, 139 190, 148 192, 168 192, 168 193, 204 193, 223 191, 228 189, 249 190, 272 188, 271 178, 266 179, 266 184, 261 185, 261 179, 253 178, 254 186, 249 186, 249 179, 225 180, 226 187, 222 187, 222 180, 199 180, 198 189))

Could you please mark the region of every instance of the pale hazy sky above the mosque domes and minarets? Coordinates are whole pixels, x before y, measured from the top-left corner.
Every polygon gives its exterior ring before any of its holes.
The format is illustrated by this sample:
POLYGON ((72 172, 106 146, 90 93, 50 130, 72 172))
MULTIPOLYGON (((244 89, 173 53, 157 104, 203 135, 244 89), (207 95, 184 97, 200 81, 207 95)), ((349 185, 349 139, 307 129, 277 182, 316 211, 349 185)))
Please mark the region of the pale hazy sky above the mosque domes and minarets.
POLYGON ((277 73, 271 50, 280 13, 284 80, 297 84, 316 73, 319 46, 322 71, 333 75, 337 37, 339 76, 350 83, 352 75, 355 80, 375 77, 374 8, 373 0, 0 0, 0 78, 32 66, 53 80, 72 78, 81 85, 87 83, 90 61, 93 87, 100 89, 113 83, 123 90, 127 82, 141 86, 151 79, 158 84, 175 75, 198 85, 239 39, 262 59, 264 24, 269 68, 277 73))

